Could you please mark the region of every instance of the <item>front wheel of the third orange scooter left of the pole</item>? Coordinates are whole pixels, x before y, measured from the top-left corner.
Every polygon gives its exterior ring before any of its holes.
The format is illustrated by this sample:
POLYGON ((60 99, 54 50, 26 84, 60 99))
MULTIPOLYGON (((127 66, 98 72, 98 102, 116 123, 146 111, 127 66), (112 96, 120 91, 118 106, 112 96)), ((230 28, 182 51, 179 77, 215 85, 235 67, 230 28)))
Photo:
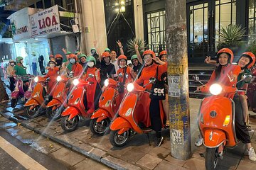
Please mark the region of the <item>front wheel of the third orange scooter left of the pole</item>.
POLYGON ((79 119, 78 116, 75 116, 74 118, 68 120, 69 115, 61 118, 61 128, 65 132, 72 132, 78 128, 79 119))

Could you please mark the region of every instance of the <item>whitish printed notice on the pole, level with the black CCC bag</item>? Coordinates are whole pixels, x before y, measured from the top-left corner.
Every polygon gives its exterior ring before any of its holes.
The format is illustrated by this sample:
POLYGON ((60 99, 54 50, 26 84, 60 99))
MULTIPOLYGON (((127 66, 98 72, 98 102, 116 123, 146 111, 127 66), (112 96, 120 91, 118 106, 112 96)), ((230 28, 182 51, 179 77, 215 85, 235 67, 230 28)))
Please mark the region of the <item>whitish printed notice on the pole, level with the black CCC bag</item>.
POLYGON ((181 96, 181 77, 180 76, 169 76, 168 79, 169 79, 168 95, 171 97, 180 97, 181 96))

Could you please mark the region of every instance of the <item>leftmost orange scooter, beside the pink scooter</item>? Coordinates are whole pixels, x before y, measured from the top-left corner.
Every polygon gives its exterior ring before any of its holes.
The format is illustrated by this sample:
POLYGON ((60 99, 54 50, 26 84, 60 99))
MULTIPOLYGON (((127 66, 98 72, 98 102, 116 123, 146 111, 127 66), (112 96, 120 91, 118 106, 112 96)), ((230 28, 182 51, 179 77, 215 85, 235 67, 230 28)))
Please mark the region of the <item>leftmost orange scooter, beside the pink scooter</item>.
POLYGON ((34 81, 37 83, 35 89, 31 98, 24 104, 24 113, 28 118, 36 118, 40 115, 46 108, 46 103, 48 102, 47 84, 50 79, 35 77, 34 81))

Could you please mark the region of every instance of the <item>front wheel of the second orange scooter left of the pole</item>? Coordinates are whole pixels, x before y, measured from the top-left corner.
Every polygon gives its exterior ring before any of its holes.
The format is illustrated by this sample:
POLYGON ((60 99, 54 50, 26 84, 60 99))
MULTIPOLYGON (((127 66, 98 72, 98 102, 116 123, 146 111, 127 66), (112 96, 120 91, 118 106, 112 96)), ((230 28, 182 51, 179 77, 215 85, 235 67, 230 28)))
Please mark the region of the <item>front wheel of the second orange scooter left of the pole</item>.
POLYGON ((110 127, 110 119, 105 118, 100 122, 97 122, 97 118, 90 121, 90 130, 94 135, 103 136, 110 127))

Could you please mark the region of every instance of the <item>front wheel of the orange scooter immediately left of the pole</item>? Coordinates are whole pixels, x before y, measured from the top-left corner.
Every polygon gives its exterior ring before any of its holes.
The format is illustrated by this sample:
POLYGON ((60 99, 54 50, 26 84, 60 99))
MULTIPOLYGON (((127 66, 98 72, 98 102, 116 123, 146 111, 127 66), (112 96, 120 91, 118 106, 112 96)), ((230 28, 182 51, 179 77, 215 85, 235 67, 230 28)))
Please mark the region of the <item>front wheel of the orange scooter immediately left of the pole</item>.
POLYGON ((123 132, 121 135, 118 134, 118 131, 119 130, 114 130, 110 132, 110 143, 114 147, 123 147, 129 140, 129 130, 123 132))

